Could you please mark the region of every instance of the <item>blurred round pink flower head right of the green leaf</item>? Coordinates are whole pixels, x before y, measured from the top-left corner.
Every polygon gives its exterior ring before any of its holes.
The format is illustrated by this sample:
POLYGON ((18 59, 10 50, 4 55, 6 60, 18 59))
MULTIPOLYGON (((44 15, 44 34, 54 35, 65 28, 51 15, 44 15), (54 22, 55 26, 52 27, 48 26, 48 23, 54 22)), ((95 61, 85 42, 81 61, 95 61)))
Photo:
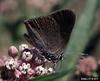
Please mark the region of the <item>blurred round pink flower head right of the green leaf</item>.
POLYGON ((97 62, 92 56, 83 57, 80 59, 79 64, 76 66, 76 73, 83 73, 85 75, 91 76, 92 72, 97 69, 97 62))

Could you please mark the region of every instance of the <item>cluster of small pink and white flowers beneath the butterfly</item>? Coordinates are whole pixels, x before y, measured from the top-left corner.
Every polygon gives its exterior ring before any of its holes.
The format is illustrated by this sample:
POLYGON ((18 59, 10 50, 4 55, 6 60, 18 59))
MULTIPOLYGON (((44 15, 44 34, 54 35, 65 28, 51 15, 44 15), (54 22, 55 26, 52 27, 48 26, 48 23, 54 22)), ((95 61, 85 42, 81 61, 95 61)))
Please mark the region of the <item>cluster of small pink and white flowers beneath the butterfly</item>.
POLYGON ((29 48, 27 44, 21 44, 17 49, 11 46, 8 49, 8 57, 0 58, 1 78, 25 81, 32 77, 51 74, 54 69, 46 65, 48 62, 35 47, 29 48))

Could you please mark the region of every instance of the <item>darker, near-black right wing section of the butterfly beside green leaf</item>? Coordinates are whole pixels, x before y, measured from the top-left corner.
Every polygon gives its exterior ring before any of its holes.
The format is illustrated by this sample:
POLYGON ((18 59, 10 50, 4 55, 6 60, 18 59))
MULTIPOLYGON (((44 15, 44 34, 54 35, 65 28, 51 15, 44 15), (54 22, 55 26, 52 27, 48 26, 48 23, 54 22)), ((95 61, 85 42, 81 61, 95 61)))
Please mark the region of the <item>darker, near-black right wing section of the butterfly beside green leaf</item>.
POLYGON ((62 10, 61 12, 58 11, 58 12, 56 12, 56 14, 53 13, 53 14, 51 14, 51 16, 55 19, 55 21, 60 26, 60 34, 62 37, 61 40, 63 41, 63 43, 61 44, 61 47, 59 48, 57 53, 61 54, 61 53, 63 53, 63 50, 69 41, 72 29, 74 27, 75 14, 71 10, 67 10, 67 9, 62 10))

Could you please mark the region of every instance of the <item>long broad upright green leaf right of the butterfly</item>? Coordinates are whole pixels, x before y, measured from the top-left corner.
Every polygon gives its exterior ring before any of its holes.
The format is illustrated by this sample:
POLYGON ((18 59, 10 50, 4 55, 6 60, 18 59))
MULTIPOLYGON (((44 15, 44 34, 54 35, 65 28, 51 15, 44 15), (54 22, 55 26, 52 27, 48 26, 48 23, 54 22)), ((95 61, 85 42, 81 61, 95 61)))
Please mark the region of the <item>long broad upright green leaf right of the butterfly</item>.
MULTIPOLYGON (((92 23, 95 16, 95 10, 98 0, 87 0, 83 13, 80 15, 73 29, 70 41, 65 50, 62 69, 75 67, 77 60, 83 52, 90 36, 92 23)), ((73 73, 72 73, 73 74, 73 73)), ((71 76, 68 74, 67 76, 71 76)), ((68 78, 63 78, 61 81, 69 81, 68 78)))

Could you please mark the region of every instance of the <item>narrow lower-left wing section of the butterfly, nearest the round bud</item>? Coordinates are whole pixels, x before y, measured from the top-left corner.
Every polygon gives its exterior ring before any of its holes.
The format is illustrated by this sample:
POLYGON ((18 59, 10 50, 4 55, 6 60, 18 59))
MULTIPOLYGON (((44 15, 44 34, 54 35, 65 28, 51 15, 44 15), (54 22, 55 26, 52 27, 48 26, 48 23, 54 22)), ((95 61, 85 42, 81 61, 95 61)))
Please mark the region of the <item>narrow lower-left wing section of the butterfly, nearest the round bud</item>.
POLYGON ((41 39, 38 36, 38 33, 35 30, 31 29, 31 26, 28 22, 25 22, 26 29, 28 34, 24 34, 25 39, 33 46, 39 49, 46 49, 44 43, 42 43, 41 39))

